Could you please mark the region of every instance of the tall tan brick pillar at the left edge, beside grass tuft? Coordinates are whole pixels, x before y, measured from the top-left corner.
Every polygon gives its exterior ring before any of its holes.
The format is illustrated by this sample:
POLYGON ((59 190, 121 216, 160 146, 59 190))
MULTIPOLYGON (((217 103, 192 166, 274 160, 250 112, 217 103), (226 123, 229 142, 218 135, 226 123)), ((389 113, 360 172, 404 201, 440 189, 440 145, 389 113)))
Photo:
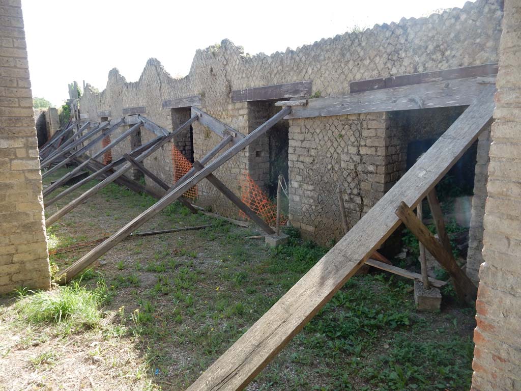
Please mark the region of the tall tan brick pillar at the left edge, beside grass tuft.
POLYGON ((42 177, 19 0, 0 0, 0 294, 47 289, 42 177))

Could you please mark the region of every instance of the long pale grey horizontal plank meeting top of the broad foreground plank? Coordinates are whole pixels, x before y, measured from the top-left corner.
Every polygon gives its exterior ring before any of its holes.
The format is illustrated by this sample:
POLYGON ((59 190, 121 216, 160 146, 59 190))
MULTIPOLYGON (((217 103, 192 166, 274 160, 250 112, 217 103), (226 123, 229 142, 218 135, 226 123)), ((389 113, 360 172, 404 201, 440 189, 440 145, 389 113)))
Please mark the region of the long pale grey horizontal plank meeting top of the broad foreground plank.
POLYGON ((456 79, 309 99, 307 106, 293 107, 286 119, 468 106, 493 82, 491 77, 456 79))

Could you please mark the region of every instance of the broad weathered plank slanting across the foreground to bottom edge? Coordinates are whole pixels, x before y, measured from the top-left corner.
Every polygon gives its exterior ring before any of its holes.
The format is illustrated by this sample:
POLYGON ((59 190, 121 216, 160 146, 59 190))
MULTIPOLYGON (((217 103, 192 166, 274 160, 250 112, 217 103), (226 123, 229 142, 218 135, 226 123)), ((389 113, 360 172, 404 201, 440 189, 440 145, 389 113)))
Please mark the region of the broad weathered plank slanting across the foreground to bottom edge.
POLYGON ((242 390, 301 331, 400 225, 394 211, 416 206, 463 155, 494 110, 489 85, 416 164, 189 391, 242 390))

